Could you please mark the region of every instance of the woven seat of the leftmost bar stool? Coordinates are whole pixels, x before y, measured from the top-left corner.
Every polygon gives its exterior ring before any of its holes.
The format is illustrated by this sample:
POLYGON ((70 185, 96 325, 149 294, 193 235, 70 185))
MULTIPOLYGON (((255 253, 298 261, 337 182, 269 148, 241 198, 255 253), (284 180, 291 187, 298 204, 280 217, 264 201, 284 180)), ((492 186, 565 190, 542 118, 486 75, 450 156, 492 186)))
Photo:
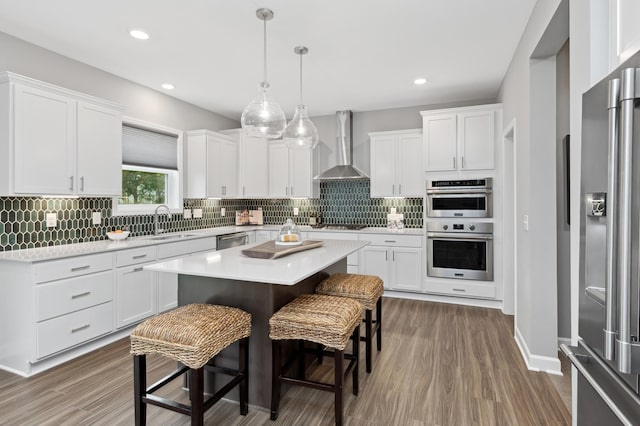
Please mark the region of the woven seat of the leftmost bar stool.
POLYGON ((160 354, 198 369, 251 334, 251 315, 228 306, 191 304, 148 319, 131 332, 131 353, 160 354))

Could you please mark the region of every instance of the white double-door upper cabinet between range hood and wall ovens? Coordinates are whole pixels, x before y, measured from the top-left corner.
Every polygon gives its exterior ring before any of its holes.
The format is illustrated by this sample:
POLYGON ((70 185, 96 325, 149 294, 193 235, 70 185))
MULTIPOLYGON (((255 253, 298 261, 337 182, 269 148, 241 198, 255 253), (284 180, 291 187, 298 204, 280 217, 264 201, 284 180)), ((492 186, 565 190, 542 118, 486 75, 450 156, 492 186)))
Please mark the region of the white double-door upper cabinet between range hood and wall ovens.
POLYGON ((422 131, 369 133, 371 197, 422 197, 422 131))

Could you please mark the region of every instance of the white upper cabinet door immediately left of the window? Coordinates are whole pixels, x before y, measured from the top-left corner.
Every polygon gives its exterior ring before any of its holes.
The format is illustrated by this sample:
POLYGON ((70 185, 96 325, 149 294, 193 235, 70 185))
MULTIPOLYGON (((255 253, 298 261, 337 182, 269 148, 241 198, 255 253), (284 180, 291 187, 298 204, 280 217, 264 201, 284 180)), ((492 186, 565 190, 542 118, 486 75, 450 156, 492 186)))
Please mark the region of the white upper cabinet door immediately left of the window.
POLYGON ((122 194, 122 116, 120 112, 78 102, 78 195, 122 194))

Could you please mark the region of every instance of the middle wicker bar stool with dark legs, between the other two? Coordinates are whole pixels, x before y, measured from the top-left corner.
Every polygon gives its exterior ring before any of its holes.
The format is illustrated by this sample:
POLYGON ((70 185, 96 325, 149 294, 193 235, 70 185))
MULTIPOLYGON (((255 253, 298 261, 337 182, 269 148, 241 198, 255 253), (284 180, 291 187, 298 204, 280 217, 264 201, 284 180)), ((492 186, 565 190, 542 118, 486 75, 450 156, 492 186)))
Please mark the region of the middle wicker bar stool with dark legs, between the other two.
MULTIPOLYGON (((358 395, 358 358, 362 306, 355 300, 344 297, 305 294, 297 297, 271 316, 269 337, 272 339, 273 369, 271 382, 271 420, 278 418, 280 385, 289 383, 334 393, 335 422, 342 424, 343 382, 352 374, 353 394, 358 395), (344 352, 349 339, 353 338, 353 351, 344 352), (298 340, 298 353, 284 365, 281 362, 281 341, 298 340), (333 349, 335 361, 334 383, 305 380, 304 341, 319 343, 333 349), (285 377, 293 361, 298 360, 299 378, 285 377), (343 359, 349 360, 343 372, 343 359)), ((314 352, 315 353, 315 352, 314 352)))

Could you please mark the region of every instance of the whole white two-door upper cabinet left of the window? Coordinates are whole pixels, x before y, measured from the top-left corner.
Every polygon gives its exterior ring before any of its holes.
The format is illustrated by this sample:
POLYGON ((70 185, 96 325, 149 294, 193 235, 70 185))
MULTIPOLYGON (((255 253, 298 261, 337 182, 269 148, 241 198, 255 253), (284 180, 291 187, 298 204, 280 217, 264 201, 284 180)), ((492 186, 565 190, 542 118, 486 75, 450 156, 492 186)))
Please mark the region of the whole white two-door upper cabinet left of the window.
POLYGON ((120 196, 122 108, 0 74, 0 194, 120 196))

